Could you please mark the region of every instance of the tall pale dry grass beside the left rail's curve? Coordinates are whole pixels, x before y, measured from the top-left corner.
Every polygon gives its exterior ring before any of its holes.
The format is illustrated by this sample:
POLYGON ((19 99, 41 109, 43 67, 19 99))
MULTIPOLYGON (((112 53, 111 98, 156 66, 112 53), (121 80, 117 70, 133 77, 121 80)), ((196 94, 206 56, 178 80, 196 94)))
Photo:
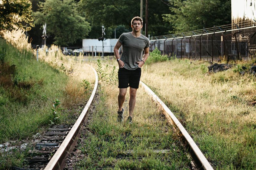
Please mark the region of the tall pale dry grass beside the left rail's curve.
MULTIPOLYGON (((90 90, 95 83, 95 75, 92 68, 82 62, 83 56, 78 56, 78 61, 75 61, 75 56, 65 56, 61 53, 60 47, 52 45, 46 52, 46 47, 39 48, 38 57, 40 60, 49 63, 54 68, 68 75, 69 81, 65 88, 65 98, 62 99, 63 107, 72 107, 77 104, 86 103, 90 97, 90 92, 85 92, 82 81, 86 80, 90 83, 90 90)), ((34 51, 36 55, 36 51, 34 51)))

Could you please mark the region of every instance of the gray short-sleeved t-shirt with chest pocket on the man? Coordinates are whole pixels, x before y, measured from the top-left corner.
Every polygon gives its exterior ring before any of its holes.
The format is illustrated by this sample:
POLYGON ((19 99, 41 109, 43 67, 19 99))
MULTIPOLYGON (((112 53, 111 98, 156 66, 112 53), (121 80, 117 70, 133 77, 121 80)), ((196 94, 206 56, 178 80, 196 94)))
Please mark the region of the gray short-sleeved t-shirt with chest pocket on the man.
POLYGON ((146 36, 140 34, 140 37, 134 37, 132 32, 123 33, 118 41, 123 45, 121 60, 124 62, 124 68, 135 70, 138 68, 139 61, 142 60, 144 48, 149 47, 149 40, 146 36))

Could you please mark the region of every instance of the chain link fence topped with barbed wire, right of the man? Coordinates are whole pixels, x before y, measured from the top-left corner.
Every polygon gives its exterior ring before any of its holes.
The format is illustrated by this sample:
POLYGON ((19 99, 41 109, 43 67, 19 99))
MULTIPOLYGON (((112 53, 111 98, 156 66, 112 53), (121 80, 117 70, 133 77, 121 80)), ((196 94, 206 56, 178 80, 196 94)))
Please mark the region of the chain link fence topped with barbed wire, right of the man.
POLYGON ((168 36, 152 37, 150 51, 158 48, 163 55, 199 60, 241 60, 255 56, 256 26, 231 25, 168 36), (226 30, 225 30, 226 28, 226 30), (236 29, 234 29, 236 28, 236 29), (172 38, 171 38, 172 36, 172 38))

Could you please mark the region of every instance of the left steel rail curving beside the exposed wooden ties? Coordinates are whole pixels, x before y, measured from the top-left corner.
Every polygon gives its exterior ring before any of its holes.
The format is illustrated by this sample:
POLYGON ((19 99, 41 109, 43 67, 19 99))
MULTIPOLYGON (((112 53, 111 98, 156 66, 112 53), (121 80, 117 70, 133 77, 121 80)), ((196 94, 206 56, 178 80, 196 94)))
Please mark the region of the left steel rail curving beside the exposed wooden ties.
MULTIPOLYGON (((88 64, 89 65, 89 64, 88 64)), ((90 65, 89 65, 90 66, 90 65)), ((96 70, 90 66, 94 73, 95 73, 95 84, 91 94, 90 99, 88 100, 84 110, 76 120, 75 124, 73 125, 72 129, 68 133, 67 137, 64 139, 62 144, 60 145, 59 149, 53 155, 52 159, 49 161, 47 166, 44 168, 45 170, 52 170, 52 169, 63 169, 65 166, 65 158, 66 156, 72 152, 74 143, 77 141, 77 137, 79 136, 79 130, 81 129, 83 122, 87 119, 87 111, 92 103, 92 100, 95 96, 96 89, 98 87, 98 75, 96 70)))

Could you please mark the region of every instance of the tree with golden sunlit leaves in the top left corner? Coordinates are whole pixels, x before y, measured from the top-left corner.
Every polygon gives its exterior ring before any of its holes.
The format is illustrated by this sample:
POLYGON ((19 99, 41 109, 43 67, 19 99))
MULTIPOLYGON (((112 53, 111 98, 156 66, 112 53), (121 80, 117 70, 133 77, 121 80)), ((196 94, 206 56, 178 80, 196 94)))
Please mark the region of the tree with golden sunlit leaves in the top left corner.
POLYGON ((31 3, 28 0, 0 1, 0 30, 12 30, 15 26, 30 30, 33 26, 31 3))

